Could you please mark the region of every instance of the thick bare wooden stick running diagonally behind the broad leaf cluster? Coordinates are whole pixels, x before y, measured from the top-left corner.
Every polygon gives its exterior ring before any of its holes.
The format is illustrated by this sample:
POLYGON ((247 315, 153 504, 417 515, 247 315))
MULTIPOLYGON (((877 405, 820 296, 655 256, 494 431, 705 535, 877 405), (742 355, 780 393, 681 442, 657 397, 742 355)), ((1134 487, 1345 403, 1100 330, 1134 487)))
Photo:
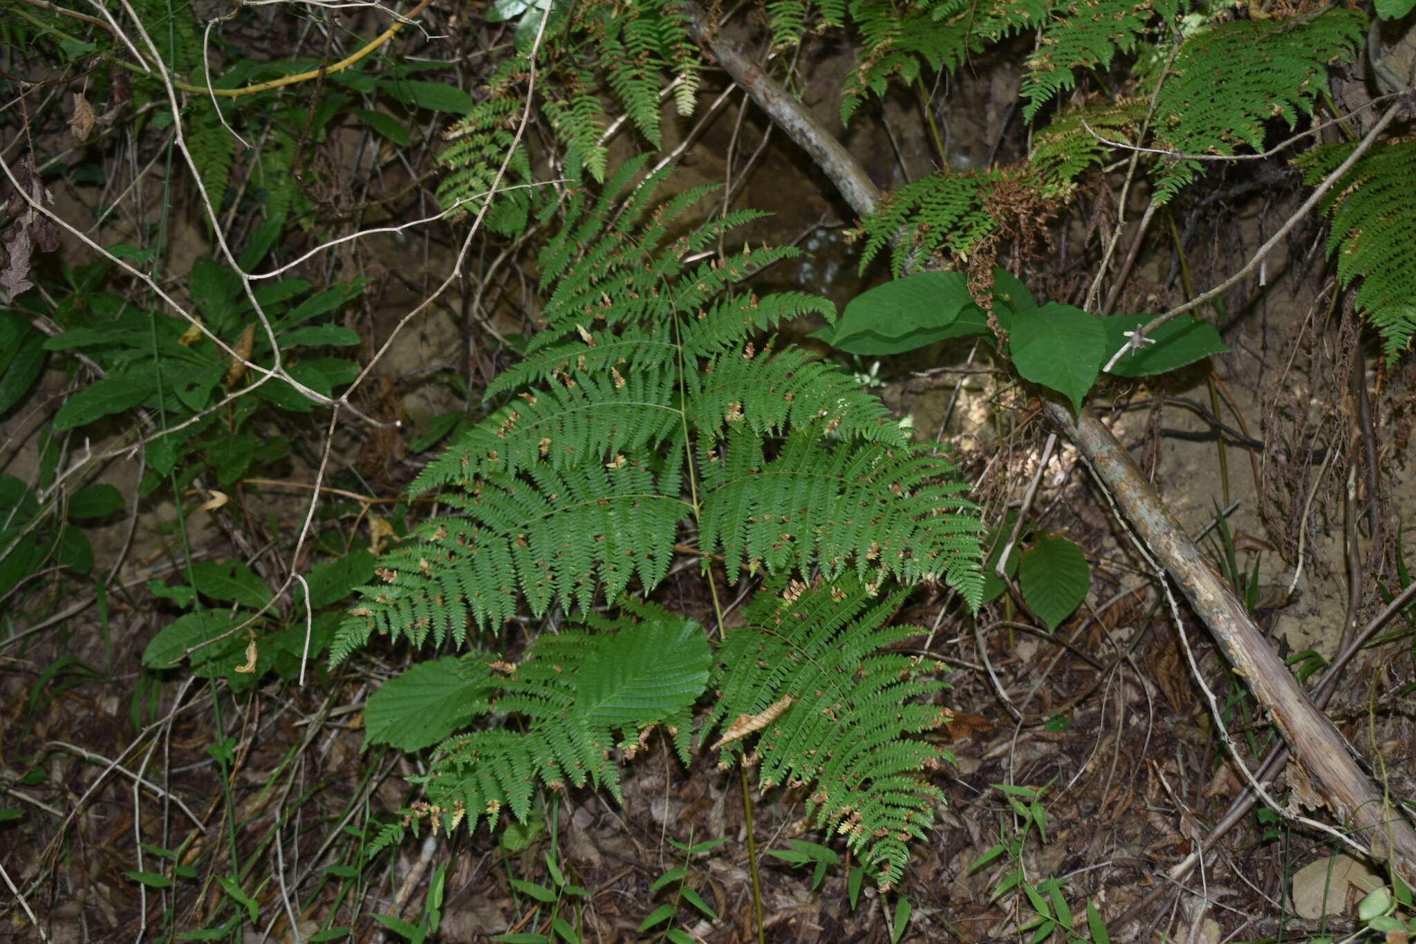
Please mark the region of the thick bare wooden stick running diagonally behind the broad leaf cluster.
MULTIPOLYGON (((806 108, 741 50, 709 28, 704 11, 685 4, 690 30, 762 110, 817 163, 855 212, 871 212, 879 190, 855 159, 806 108)), ((1416 885, 1416 831, 1358 767, 1347 742, 1294 681, 1267 640, 1249 618, 1229 586, 1205 562, 1160 495, 1136 468, 1112 432, 1083 409, 1073 420, 1048 403, 1048 418, 1093 464, 1123 514, 1136 528, 1191 607, 1223 648, 1235 671, 1273 716, 1293 756, 1318 797, 1344 827, 1358 831, 1374 859, 1392 859, 1402 877, 1416 885)))

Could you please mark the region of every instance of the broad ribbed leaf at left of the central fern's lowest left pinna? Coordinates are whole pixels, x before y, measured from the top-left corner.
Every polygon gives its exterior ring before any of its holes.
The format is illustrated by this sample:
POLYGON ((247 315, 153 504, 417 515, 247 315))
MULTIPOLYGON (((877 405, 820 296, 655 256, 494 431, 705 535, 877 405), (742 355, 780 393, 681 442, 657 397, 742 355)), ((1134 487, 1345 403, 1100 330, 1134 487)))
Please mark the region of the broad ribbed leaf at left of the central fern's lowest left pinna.
POLYGON ((476 658, 419 662, 384 682, 364 708, 364 746, 422 750, 487 710, 490 671, 476 658))

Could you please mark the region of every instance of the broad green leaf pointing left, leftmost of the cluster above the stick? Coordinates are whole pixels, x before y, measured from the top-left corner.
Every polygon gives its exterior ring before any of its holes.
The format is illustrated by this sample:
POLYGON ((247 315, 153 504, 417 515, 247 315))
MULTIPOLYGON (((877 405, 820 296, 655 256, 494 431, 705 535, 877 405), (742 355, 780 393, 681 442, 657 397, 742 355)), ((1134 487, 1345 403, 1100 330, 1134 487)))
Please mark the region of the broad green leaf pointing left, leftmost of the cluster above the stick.
MULTIPOLYGON (((961 272, 920 272, 862 292, 835 324, 811 337, 851 354, 902 354, 956 337, 954 323, 969 306, 973 297, 961 272)), ((967 327, 976 328, 976 320, 967 327)))

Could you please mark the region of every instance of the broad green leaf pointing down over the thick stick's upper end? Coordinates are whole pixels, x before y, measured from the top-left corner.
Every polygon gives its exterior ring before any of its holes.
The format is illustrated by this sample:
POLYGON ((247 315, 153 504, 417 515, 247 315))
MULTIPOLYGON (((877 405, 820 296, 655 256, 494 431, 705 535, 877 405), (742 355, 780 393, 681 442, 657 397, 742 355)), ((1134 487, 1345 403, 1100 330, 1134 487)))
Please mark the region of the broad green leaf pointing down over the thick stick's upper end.
POLYGON ((1100 318, 1049 301, 1014 313, 1008 350, 1018 374, 1062 393, 1080 410, 1106 361, 1106 337, 1100 318))

